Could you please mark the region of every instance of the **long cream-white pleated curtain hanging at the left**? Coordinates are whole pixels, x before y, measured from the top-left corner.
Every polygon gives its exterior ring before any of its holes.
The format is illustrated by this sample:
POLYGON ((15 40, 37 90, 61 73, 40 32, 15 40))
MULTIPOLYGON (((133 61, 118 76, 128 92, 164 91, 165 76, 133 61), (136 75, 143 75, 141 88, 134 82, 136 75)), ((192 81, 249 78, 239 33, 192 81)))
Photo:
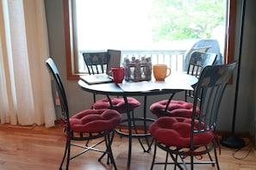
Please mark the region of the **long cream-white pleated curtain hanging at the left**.
POLYGON ((1 124, 54 125, 44 0, 0 0, 1 124))

